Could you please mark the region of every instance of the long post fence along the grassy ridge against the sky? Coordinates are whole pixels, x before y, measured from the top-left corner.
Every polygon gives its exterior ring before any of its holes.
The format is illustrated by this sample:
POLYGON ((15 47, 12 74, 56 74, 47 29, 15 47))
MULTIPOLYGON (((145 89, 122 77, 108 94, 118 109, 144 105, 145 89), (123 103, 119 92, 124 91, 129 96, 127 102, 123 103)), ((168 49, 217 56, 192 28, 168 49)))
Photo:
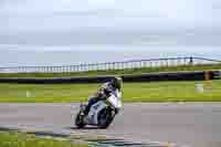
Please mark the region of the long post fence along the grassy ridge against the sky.
POLYGON ((178 65, 211 64, 221 61, 209 60, 203 57, 168 57, 150 60, 133 60, 124 62, 106 62, 78 65, 62 66, 14 66, 0 67, 0 73, 70 73, 70 72, 88 72, 88 71, 110 71, 110 70, 130 70, 141 67, 164 67, 178 65))

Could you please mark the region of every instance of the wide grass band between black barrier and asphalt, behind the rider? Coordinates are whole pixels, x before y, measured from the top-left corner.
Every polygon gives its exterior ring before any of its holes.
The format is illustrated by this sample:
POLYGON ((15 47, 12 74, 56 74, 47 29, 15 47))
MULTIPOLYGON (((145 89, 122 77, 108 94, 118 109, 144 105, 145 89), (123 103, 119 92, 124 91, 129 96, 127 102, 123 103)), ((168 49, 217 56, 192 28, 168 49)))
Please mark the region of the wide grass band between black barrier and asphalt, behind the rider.
MULTIPOLYGON (((203 82, 124 83, 124 102, 221 102, 221 81, 196 91, 203 82)), ((99 84, 0 84, 1 103, 71 103, 87 101, 99 84)))

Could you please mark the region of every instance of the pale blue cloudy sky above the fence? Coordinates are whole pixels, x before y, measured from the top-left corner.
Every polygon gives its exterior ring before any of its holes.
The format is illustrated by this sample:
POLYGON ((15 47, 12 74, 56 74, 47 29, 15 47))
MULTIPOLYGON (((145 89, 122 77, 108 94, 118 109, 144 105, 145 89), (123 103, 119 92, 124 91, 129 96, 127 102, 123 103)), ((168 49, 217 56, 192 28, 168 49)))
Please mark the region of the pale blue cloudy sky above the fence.
POLYGON ((221 59, 220 13, 219 0, 0 0, 0 66, 221 59))

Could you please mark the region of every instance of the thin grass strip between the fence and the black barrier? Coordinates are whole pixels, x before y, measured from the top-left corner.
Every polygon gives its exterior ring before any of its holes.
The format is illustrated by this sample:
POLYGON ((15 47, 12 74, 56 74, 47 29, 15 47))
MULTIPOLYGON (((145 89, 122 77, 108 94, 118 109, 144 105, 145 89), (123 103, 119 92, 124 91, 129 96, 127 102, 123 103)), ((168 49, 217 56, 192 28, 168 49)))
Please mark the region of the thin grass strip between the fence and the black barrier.
POLYGON ((152 73, 152 72, 207 71, 207 70, 221 70, 221 64, 143 67, 133 70, 91 71, 91 72, 78 72, 78 73, 0 73, 0 77, 97 76, 97 75, 122 75, 122 74, 140 74, 140 73, 152 73))

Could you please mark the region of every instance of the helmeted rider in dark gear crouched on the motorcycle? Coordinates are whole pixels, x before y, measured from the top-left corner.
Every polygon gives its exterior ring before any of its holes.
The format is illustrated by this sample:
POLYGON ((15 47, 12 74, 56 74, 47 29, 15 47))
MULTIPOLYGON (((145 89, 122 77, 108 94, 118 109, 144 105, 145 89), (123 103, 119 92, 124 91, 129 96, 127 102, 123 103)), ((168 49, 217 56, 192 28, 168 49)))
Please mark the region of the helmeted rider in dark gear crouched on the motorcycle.
POLYGON ((105 99, 112 92, 122 91, 123 81, 120 77, 114 77, 110 82, 104 83, 95 95, 93 95, 85 108, 84 114, 87 115, 92 105, 101 99, 105 99))

